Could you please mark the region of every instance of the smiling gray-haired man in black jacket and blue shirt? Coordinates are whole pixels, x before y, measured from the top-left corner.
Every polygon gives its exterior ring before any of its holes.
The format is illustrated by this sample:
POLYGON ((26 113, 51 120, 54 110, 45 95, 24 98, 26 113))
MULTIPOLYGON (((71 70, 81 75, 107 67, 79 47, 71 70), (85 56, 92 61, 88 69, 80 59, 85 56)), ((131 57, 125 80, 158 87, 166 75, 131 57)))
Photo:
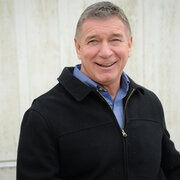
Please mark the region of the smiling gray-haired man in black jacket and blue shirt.
POLYGON ((179 180, 160 101, 123 72, 132 47, 123 11, 89 6, 75 47, 81 65, 24 115, 17 180, 179 180))

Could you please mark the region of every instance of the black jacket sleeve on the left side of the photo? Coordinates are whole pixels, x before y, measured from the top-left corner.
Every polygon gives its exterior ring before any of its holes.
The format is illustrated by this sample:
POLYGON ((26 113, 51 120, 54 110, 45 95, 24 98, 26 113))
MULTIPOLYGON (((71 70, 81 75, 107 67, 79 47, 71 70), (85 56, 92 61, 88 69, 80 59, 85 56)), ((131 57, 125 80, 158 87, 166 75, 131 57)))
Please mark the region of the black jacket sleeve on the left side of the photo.
POLYGON ((23 118, 17 154, 17 180, 63 180, 52 129, 43 116, 28 110, 23 118))

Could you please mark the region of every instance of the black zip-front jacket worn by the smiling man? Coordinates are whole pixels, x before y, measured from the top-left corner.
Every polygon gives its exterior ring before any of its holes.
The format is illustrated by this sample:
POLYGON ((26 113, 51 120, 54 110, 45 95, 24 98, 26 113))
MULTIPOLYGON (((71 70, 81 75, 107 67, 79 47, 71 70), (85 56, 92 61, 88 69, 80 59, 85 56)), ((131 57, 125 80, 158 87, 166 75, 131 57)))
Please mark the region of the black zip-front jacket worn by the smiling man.
POLYGON ((17 180, 180 180, 158 98, 130 80, 121 130, 100 93, 72 72, 25 113, 17 180))

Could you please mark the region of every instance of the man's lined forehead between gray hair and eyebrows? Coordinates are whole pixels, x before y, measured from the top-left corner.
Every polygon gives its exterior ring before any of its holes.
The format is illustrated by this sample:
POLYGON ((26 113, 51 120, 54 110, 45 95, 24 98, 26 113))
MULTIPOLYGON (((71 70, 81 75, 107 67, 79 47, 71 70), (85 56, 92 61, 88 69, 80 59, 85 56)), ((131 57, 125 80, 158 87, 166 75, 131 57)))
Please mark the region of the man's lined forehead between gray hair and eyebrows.
POLYGON ((103 19, 86 19, 81 27, 81 37, 95 35, 117 35, 127 34, 127 28, 119 17, 110 17, 103 19))

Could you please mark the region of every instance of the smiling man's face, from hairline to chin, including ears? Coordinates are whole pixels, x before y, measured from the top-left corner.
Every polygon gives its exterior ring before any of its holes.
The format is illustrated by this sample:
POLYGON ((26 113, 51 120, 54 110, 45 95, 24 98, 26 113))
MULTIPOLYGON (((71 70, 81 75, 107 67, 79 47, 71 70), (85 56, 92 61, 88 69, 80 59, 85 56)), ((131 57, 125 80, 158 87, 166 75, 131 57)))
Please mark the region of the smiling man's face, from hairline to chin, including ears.
POLYGON ((119 84, 122 71, 131 55, 132 37, 118 17, 87 19, 75 38, 81 71, 98 84, 119 84))

